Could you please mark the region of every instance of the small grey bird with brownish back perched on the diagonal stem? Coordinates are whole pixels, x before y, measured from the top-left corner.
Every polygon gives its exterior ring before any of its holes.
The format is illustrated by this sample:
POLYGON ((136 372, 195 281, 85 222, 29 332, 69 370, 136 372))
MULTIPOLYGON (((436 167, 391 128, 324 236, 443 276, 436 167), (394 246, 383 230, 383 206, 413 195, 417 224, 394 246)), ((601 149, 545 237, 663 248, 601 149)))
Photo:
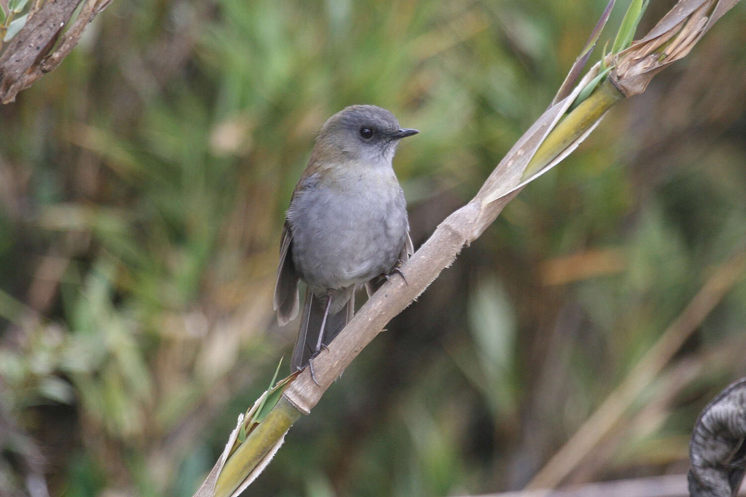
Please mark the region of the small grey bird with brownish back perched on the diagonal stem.
MULTIPOLYGON (((399 127, 388 110, 354 105, 325 122, 287 210, 275 311, 280 326, 298 315, 298 279, 307 284, 292 371, 331 343, 368 295, 412 253, 407 203, 392 168, 399 127)), ((313 374, 313 370, 312 370, 313 374)))

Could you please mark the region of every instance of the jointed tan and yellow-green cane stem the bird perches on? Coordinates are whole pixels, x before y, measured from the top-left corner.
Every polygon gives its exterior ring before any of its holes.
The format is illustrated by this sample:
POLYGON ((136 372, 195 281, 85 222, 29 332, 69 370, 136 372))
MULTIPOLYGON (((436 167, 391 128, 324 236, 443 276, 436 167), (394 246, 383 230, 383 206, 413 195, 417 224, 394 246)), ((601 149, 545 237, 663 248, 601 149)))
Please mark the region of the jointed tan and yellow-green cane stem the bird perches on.
MULTIPOLYGON (((239 419, 236 429, 248 436, 235 450, 235 443, 228 443, 210 473, 210 482, 206 481, 195 497, 237 496, 248 487, 269 463, 295 420, 310 413, 330 384, 392 317, 409 306, 451 265, 460 250, 478 238, 527 183, 574 151, 611 107, 645 91, 654 75, 689 53, 715 20, 737 1, 680 0, 647 37, 590 69, 569 95, 553 104, 518 140, 477 195, 439 224, 430 239, 402 266, 406 282, 402 278, 386 282, 328 349, 313 359, 319 384, 313 382, 306 368, 295 379, 285 381, 283 393, 272 410, 263 422, 252 422, 250 432, 246 421, 239 419), (606 73, 608 77, 604 79, 606 73), (603 82, 595 88, 601 79, 603 82), (581 100, 577 98, 581 92, 594 88, 588 98, 576 102, 581 100), (571 107, 574 108, 568 113, 571 107)), ((574 66, 571 72, 577 74, 577 68, 574 66)), ((558 98, 566 92, 564 88, 563 84, 558 98)))

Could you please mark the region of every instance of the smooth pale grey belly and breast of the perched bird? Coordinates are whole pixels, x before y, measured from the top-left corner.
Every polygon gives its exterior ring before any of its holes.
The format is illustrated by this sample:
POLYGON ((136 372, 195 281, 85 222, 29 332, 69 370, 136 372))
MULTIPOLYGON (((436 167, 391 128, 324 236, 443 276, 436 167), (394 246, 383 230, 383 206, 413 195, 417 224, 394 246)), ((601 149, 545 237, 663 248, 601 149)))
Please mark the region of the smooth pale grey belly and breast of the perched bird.
POLYGON ((294 204, 293 262, 314 294, 360 285, 395 266, 409 229, 398 191, 342 198, 316 190, 294 204))

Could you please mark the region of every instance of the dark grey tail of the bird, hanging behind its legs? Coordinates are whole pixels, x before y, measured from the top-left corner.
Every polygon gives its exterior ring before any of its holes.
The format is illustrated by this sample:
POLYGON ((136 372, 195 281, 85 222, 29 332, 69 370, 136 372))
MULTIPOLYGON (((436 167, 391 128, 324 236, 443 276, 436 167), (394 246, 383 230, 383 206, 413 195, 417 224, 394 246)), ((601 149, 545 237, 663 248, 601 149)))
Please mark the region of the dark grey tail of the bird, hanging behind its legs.
MULTIPOLYGON (((319 333, 322 331, 326 304, 325 297, 316 297, 310 290, 306 289, 301 329, 298 331, 298 340, 295 341, 295 348, 292 349, 292 358, 290 359, 292 372, 306 367, 310 358, 316 353, 316 344, 319 343, 319 333)), ((352 319, 354 308, 355 294, 353 292, 350 300, 339 312, 327 316, 322 344, 329 345, 334 337, 342 331, 342 328, 352 319)))

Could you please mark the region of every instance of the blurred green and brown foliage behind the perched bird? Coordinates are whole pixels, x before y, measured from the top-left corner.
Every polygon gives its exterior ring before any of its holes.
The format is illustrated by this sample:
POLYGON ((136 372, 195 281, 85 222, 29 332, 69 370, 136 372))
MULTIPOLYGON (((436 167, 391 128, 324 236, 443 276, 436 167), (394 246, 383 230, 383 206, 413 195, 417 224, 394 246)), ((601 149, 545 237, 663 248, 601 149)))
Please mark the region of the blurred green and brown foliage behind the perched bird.
MULTIPOLYGON (((294 341, 270 296, 325 118, 370 103, 421 130, 395 159, 417 246, 548 105, 605 3, 113 2, 0 108, 0 493, 42 476, 53 496, 191 495, 294 341)), ((254 493, 526 484, 745 250, 745 22, 728 13, 510 203, 254 493)), ((741 282, 565 481, 683 473, 700 408, 746 373, 744 323, 741 282)))

